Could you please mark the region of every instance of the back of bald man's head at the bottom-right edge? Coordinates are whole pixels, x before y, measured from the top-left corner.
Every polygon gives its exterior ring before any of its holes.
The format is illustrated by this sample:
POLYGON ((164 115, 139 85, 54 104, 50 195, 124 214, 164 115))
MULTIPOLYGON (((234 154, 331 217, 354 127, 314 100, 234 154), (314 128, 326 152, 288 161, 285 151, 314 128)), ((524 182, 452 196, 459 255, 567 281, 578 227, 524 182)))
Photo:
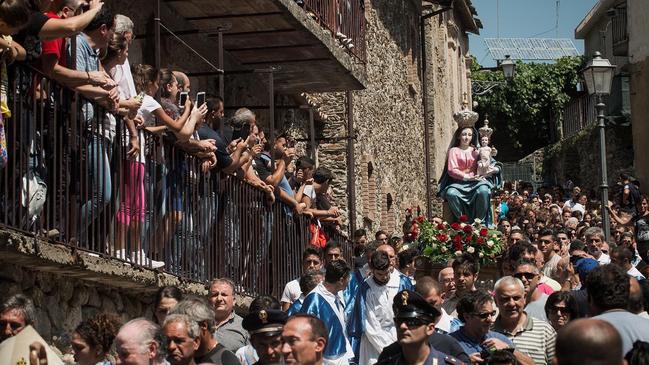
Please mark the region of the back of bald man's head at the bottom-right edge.
POLYGON ((557 336, 553 365, 622 365, 622 338, 600 319, 577 319, 557 336))

